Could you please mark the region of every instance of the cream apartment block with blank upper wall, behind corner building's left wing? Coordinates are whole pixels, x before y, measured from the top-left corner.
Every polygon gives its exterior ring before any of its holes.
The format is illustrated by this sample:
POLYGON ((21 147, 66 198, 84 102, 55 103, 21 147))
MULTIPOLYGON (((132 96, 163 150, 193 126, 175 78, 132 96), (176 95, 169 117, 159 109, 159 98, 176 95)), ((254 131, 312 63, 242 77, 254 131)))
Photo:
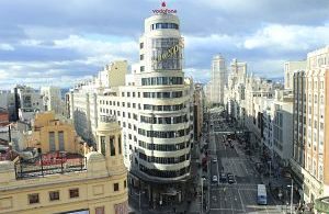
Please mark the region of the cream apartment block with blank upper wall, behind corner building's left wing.
MULTIPOLYGON (((87 142, 95 143, 98 127, 98 94, 104 89, 125 86, 128 64, 117 60, 104 66, 98 76, 80 81, 65 95, 66 112, 75 122, 77 133, 87 142)), ((107 112, 109 113, 109 112, 107 112)))

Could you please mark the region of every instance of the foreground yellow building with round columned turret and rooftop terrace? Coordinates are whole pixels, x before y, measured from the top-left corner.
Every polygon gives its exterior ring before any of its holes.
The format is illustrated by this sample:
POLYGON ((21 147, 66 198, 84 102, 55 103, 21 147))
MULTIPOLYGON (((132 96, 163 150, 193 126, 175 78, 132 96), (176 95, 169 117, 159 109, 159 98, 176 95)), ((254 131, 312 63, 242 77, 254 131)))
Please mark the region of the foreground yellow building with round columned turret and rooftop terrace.
MULTIPOLYGON (((35 125, 42 124, 46 131, 47 120, 38 122, 35 125)), ((115 120, 103 117, 98 129, 100 149, 86 157, 67 153, 65 158, 54 157, 48 162, 42 159, 44 155, 29 162, 19 158, 0 161, 0 213, 127 213, 127 172, 121 138, 115 120)), ((41 148, 47 150, 43 144, 48 142, 47 137, 41 140, 41 148)))

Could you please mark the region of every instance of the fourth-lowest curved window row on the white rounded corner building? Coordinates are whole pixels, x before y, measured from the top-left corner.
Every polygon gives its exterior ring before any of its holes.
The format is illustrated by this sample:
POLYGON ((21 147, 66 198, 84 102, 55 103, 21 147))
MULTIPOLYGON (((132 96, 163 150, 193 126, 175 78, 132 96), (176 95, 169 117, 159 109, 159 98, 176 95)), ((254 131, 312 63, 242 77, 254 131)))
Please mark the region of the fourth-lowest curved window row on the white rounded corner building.
POLYGON ((190 127, 185 129, 179 129, 179 131, 146 131, 143 128, 138 128, 138 134, 144 135, 147 137, 155 137, 155 138, 175 138, 175 137, 182 137, 190 133, 190 127))

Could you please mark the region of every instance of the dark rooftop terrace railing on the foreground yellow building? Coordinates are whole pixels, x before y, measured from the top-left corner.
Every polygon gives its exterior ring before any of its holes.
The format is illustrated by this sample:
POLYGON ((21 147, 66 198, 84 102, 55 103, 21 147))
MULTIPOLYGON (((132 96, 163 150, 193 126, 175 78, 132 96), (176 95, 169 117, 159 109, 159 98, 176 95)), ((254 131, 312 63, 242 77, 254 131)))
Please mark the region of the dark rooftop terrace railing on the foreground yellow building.
POLYGON ((20 159, 20 161, 15 162, 16 179, 44 177, 56 173, 69 173, 75 171, 84 171, 87 169, 86 157, 48 157, 49 156, 42 155, 29 160, 20 159))

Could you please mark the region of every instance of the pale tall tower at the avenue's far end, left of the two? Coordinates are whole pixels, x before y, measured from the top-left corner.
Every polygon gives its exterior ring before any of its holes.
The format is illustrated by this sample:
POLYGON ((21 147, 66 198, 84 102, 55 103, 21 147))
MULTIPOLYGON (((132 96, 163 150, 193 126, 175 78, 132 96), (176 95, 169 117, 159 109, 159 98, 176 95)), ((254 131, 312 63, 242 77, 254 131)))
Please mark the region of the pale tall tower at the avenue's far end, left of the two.
POLYGON ((212 63, 211 101, 213 104, 224 104, 224 88, 227 82, 225 58, 216 55, 212 63))

